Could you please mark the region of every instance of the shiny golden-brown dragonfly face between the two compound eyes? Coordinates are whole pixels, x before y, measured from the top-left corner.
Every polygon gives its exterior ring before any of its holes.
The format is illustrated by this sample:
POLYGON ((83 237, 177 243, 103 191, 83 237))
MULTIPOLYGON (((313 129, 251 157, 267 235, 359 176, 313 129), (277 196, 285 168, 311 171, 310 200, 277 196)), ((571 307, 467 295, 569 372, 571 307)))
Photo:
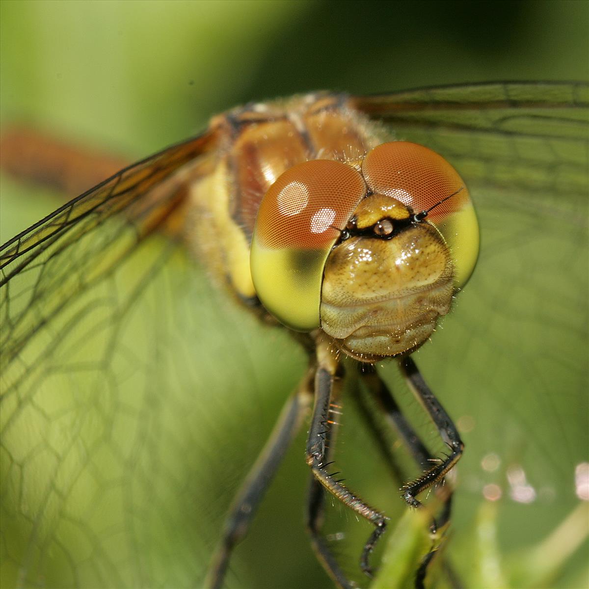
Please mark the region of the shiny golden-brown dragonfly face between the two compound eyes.
POLYGON ((401 201, 373 194, 327 257, 321 328, 354 358, 412 352, 450 309, 448 247, 434 226, 413 217, 401 201))

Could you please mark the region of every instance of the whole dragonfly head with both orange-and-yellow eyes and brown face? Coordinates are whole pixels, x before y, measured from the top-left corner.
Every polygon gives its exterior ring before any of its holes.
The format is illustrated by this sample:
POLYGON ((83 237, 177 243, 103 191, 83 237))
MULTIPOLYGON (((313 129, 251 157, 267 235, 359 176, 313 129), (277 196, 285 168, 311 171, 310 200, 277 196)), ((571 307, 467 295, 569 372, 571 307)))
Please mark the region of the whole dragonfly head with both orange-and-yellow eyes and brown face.
POLYGON ((448 313, 478 255, 478 223, 452 166, 393 141, 361 165, 290 168, 260 206, 250 267, 263 305, 291 329, 320 327, 373 362, 411 353, 448 313))

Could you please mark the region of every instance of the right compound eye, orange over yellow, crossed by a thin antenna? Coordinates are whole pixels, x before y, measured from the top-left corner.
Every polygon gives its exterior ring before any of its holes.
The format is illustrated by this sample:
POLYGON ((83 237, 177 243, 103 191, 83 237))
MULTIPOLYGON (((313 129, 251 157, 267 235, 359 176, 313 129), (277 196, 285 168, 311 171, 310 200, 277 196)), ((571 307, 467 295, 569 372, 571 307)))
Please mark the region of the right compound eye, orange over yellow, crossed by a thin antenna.
POLYGON ((426 216, 444 238, 455 267, 455 286, 462 287, 474 270, 479 249, 478 221, 466 184, 439 154, 407 141, 383 143, 369 151, 362 173, 373 193, 385 194, 426 216), (462 188, 462 190, 460 190, 462 188))

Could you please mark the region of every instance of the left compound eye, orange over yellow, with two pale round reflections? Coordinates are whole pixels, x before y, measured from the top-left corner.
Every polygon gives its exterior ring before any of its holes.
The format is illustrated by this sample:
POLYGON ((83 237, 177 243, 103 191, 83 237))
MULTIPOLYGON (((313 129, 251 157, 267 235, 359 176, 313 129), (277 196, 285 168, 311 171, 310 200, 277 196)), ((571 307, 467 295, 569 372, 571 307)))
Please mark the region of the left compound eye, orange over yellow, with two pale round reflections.
POLYGON ((325 260, 365 194, 355 168, 312 160, 284 172, 262 198, 250 271, 260 301, 287 327, 319 327, 325 260))

